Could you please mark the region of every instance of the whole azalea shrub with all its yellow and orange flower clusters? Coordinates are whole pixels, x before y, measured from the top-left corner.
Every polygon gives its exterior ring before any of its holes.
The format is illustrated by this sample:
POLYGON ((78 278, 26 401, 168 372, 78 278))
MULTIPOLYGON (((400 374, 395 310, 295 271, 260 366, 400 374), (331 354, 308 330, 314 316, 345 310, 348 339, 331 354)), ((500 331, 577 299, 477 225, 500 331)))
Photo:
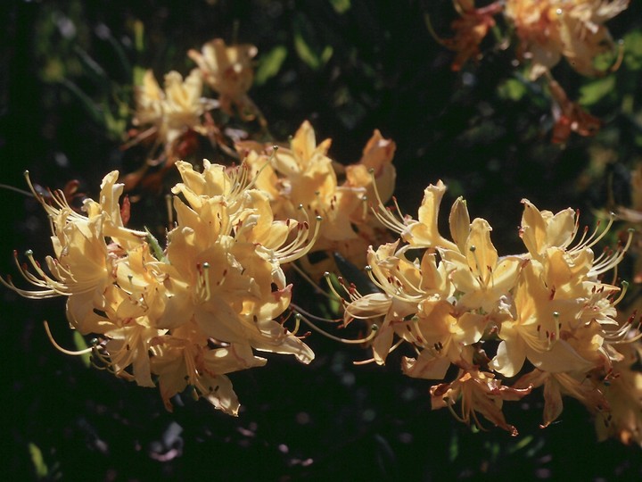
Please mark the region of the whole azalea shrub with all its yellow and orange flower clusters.
MULTIPOLYGON (((339 14, 350 9, 332 4, 339 14)), ((622 64, 635 71, 634 54, 606 25, 628 1, 451 6, 451 21, 425 9, 425 37, 444 47, 440 54, 462 79, 507 53, 512 77, 501 79, 498 97, 528 102, 525 93, 537 92, 532 104, 550 111, 543 133, 530 126, 539 133, 524 138, 563 149, 575 135, 609 132, 607 119, 571 100, 566 83, 569 71, 581 78, 616 76, 622 64)), ((322 69, 333 49, 306 44, 304 25, 292 23, 297 54, 322 69)), ((135 29, 142 38, 142 25, 135 29)), ((66 300, 66 320, 82 337, 64 347, 45 321, 54 347, 157 387, 167 411, 187 395, 238 416, 236 373, 279 355, 314 365, 325 356, 313 350, 323 337, 337 351, 359 345, 358 370, 400 363, 403 375, 427 380, 432 410, 446 408, 475 430, 517 436, 505 402, 534 397, 547 428, 575 399, 600 440, 642 445, 639 168, 630 203, 612 195, 607 209, 587 218, 523 198, 510 208, 522 210, 521 221, 506 215, 493 230, 490 217, 471 216, 455 176, 431 179, 422 167, 412 191, 399 186, 403 146, 384 129, 370 129, 341 157, 333 139, 317 139, 313 112, 284 135, 252 90, 281 68, 278 46, 261 57, 251 43, 199 41, 162 77, 136 64, 134 85, 113 87, 127 106, 113 113, 105 101, 103 113, 111 112, 110 135, 128 162, 101 172, 100 189, 87 189, 97 195, 80 192, 75 180, 44 189, 45 179, 26 173, 50 223, 53 255, 41 264, 32 251, 16 251, 21 279, 0 282, 29 299, 66 300), (455 200, 446 216, 448 189, 455 200), (511 237, 512 253, 496 247, 511 237)))

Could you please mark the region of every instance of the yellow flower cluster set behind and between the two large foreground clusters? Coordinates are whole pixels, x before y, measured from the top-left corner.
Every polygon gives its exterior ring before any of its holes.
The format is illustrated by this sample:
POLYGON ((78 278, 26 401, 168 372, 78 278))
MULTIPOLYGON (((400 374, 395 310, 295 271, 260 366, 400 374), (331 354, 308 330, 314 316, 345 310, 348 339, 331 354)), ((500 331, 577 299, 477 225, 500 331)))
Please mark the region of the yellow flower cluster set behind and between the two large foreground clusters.
MULTIPOLYGON (((291 217, 304 206, 324 219, 324 229, 311 251, 339 252, 362 266, 367 246, 385 236, 368 202, 377 195, 383 202, 390 199, 395 187, 392 157, 396 146, 375 130, 359 162, 344 167, 328 157, 331 142, 325 139, 317 145, 314 129, 306 120, 289 146, 241 142, 236 147, 256 173, 257 187, 268 193, 277 219, 291 217)), ((333 269, 332 259, 308 268, 320 277, 333 269)))

